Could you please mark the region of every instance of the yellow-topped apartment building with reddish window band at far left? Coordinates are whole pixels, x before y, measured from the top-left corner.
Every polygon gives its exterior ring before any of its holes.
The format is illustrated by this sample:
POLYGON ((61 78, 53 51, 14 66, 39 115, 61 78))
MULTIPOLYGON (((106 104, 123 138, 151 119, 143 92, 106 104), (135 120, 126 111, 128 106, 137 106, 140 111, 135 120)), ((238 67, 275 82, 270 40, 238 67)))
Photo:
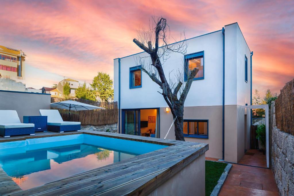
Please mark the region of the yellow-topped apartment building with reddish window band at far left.
POLYGON ((25 91, 25 54, 0 46, 0 90, 25 91))

